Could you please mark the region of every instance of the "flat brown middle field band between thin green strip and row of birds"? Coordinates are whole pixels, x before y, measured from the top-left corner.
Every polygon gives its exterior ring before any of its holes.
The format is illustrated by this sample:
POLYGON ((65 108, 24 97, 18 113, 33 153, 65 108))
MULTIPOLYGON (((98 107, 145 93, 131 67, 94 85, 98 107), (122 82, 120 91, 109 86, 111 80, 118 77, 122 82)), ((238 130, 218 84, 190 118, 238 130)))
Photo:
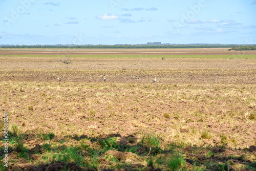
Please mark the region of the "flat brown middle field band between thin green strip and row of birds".
POLYGON ((150 83, 255 84, 256 59, 71 58, 67 65, 51 57, 0 56, 0 79, 12 81, 62 81, 150 83), (137 77, 145 76, 139 80, 137 77))

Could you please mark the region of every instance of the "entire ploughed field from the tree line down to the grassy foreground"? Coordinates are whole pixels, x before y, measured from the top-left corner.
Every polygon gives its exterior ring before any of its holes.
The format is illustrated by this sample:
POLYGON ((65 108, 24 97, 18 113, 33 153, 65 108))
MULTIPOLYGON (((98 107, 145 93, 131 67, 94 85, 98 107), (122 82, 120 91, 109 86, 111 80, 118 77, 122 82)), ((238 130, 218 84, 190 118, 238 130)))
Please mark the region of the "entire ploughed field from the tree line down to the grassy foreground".
POLYGON ((0 49, 0 170, 256 170, 256 51, 228 49, 0 49))

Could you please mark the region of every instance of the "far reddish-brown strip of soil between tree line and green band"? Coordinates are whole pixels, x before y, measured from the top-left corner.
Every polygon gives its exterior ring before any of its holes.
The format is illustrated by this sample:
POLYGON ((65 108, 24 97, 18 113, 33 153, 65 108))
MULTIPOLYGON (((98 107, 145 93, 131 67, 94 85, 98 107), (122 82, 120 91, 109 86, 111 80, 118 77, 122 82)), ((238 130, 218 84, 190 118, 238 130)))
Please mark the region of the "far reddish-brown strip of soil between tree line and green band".
POLYGON ((255 55, 256 51, 230 48, 194 49, 0 49, 0 55, 255 55))

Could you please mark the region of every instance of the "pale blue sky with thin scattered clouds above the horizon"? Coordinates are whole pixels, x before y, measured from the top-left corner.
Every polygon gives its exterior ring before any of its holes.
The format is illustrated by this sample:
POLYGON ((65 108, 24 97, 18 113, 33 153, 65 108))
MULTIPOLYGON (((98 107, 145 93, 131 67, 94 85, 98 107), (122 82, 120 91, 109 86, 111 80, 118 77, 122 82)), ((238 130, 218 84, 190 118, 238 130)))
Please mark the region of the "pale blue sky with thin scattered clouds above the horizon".
POLYGON ((0 45, 256 44, 254 0, 0 0, 0 45))

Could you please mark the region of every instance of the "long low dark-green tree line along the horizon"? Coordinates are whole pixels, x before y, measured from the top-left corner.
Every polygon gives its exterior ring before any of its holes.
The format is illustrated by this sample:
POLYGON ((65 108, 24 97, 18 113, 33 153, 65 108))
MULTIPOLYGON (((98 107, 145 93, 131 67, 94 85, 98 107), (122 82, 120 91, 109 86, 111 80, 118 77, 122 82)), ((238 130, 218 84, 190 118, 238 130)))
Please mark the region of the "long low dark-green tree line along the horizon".
MULTIPOLYGON (((1 48, 80 48, 80 49, 154 49, 154 48, 238 48, 238 45, 5 45, 1 48)), ((256 47, 253 47, 256 48, 256 47)))

